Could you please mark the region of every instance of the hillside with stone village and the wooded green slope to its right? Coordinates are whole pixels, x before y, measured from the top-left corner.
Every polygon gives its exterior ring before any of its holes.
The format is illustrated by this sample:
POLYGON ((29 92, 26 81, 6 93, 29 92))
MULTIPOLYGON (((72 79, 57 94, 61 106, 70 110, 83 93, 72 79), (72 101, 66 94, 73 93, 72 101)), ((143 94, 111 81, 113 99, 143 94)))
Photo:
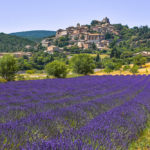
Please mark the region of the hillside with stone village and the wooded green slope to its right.
MULTIPOLYGON (((118 57, 122 53, 150 51, 150 28, 140 26, 130 28, 127 25, 111 24, 109 18, 92 20, 91 24, 70 26, 59 29, 56 37, 49 40, 53 44, 71 52, 79 50, 111 50, 117 49, 118 57), (76 47, 75 47, 76 46, 76 47)), ((47 41, 46 41, 47 44, 47 41)), ((124 54, 123 54, 124 55, 124 54)))

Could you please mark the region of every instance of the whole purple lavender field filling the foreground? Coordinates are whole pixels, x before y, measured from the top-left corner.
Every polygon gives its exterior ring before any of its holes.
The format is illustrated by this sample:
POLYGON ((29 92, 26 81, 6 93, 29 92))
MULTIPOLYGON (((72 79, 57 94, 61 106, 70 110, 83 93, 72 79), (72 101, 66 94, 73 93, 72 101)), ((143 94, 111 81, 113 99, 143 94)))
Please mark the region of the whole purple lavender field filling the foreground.
POLYGON ((150 76, 0 84, 1 150, 126 150, 150 113, 150 76))

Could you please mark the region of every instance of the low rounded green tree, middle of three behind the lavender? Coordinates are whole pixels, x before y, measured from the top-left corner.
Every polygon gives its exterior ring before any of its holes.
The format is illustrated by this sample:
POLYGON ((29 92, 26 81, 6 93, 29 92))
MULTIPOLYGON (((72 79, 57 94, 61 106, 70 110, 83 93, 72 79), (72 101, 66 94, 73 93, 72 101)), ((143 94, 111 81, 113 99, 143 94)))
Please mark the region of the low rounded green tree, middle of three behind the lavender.
POLYGON ((68 72, 66 64, 58 60, 47 64, 45 67, 45 71, 48 75, 52 75, 57 78, 65 78, 68 72))

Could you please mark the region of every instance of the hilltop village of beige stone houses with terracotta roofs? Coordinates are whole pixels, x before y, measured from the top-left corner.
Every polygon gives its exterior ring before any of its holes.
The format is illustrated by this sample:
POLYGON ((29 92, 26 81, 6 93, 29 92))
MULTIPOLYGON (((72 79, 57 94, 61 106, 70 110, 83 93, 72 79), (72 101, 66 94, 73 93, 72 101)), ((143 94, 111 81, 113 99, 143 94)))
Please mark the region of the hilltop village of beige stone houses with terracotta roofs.
POLYGON ((59 29, 53 39, 44 39, 42 46, 47 47, 47 52, 50 53, 62 51, 63 46, 61 48, 57 46, 56 41, 62 37, 67 37, 68 43, 65 45, 67 48, 77 46, 80 49, 91 49, 95 45, 99 50, 107 50, 112 38, 107 39, 106 36, 112 35, 119 35, 119 32, 106 17, 102 21, 93 20, 91 25, 80 25, 78 23, 76 27, 59 29))

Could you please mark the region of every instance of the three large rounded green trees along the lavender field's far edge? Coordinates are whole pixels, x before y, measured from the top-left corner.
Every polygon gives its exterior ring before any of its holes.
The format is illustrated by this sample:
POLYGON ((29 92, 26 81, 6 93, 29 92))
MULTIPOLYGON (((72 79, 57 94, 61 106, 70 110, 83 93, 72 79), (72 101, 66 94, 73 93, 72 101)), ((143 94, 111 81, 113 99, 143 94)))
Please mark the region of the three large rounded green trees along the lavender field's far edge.
MULTIPOLYGON (((7 81, 15 80, 19 68, 18 60, 11 55, 5 55, 0 59, 0 76, 7 81)), ((87 75, 93 73, 94 68, 93 57, 88 54, 79 54, 73 56, 67 64, 62 60, 54 60, 47 63, 44 70, 47 75, 65 78, 70 70, 78 74, 87 75)))

